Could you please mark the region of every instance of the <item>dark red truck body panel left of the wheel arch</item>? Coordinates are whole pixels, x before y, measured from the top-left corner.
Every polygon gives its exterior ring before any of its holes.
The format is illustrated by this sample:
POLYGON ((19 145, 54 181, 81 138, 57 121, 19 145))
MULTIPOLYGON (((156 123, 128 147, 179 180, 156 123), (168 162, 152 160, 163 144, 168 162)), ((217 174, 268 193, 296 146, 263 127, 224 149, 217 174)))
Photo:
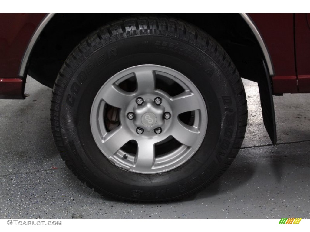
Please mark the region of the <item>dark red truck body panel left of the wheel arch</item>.
POLYGON ((46 14, 0 14, 0 98, 22 96, 20 63, 35 29, 46 14))

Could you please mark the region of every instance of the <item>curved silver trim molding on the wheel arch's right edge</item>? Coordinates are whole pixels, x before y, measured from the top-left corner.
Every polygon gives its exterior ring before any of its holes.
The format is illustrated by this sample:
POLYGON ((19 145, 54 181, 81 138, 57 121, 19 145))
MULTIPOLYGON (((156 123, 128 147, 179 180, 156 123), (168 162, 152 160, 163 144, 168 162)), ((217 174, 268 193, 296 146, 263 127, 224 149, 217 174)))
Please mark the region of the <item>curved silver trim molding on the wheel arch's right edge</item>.
POLYGON ((273 69, 273 65, 272 65, 272 61, 270 58, 270 54, 268 52, 267 46, 265 44, 265 42, 263 41, 263 38, 261 37, 258 29, 256 28, 255 24, 253 23, 252 19, 246 14, 246 13, 240 13, 241 17, 246 21, 246 23, 249 25, 249 27, 251 28, 252 32, 254 33, 260 48, 263 51, 266 63, 267 63, 267 67, 268 67, 268 71, 269 71, 269 75, 273 76, 275 75, 274 73, 274 69, 273 69))

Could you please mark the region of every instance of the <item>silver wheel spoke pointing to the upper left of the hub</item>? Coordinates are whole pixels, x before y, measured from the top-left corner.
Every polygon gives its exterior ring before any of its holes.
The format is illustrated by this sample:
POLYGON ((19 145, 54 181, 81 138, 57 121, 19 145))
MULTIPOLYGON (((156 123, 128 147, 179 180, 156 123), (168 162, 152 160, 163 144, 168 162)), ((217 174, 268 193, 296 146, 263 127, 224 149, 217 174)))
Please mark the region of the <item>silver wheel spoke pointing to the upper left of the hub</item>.
POLYGON ((113 84, 109 88, 105 88, 103 93, 103 100, 109 105, 123 108, 127 105, 132 94, 122 90, 117 85, 113 84))

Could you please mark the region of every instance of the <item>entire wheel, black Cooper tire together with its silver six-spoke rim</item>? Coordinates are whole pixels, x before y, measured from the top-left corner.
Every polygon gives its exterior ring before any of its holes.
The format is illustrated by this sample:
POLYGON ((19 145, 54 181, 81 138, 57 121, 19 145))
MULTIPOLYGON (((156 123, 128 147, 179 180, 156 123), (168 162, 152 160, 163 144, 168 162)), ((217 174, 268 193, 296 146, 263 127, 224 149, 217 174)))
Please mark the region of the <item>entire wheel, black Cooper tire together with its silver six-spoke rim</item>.
POLYGON ((73 173, 131 201, 207 187, 237 155, 246 120, 228 55, 172 18, 128 18, 93 32, 64 62, 51 104, 54 139, 73 173))

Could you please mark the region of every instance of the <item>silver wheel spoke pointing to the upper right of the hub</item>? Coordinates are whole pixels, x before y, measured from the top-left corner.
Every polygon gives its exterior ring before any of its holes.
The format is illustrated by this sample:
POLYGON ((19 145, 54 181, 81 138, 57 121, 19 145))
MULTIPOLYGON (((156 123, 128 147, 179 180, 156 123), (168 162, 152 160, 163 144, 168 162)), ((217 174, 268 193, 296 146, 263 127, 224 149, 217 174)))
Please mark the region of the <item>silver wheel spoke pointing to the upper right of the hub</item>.
POLYGON ((185 91, 173 97, 171 106, 175 115, 201 108, 197 96, 189 91, 185 91))

